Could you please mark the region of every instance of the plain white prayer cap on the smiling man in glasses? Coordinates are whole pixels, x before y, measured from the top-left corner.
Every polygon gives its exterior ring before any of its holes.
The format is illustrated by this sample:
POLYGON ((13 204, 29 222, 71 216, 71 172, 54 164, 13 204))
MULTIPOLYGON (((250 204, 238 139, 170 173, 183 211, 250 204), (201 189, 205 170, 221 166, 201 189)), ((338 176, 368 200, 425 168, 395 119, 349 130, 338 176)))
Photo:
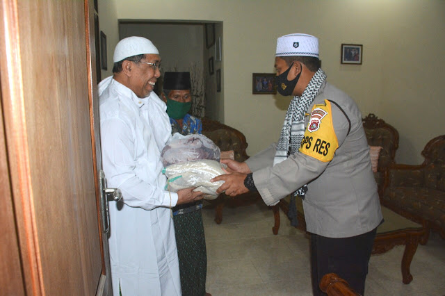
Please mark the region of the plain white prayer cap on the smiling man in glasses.
POLYGON ((120 40, 114 49, 113 62, 138 54, 159 54, 158 49, 147 38, 131 36, 120 40))

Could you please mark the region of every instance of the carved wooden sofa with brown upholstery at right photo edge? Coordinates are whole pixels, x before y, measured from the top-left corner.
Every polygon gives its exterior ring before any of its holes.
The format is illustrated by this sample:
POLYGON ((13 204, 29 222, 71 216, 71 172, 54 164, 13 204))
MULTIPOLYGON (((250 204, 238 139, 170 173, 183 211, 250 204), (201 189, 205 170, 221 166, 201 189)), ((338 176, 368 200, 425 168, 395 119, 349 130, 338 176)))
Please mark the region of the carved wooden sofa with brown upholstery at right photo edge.
POLYGON ((382 204, 423 225, 426 244, 430 230, 445 238, 445 135, 430 140, 421 165, 393 164, 387 170, 382 204))

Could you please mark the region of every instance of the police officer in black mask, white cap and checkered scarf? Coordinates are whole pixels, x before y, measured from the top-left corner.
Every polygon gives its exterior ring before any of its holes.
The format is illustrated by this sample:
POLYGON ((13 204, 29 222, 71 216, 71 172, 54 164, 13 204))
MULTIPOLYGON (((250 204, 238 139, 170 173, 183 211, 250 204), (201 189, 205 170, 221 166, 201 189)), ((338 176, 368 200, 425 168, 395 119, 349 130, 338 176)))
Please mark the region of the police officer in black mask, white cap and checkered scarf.
POLYGON ((291 194, 303 198, 311 233, 312 290, 335 272, 364 294, 375 231, 382 222, 362 115, 348 94, 326 81, 318 38, 284 35, 275 54, 277 90, 293 96, 280 139, 232 172, 218 189, 235 196, 258 190, 270 206, 291 194))

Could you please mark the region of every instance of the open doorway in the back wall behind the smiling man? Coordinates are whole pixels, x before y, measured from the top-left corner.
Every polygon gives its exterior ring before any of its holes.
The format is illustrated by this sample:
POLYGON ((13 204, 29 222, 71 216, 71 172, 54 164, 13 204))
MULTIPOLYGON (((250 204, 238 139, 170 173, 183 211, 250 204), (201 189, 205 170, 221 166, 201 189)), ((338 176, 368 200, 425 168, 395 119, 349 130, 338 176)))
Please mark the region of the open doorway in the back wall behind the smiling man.
POLYGON ((154 91, 161 97, 164 72, 190 72, 191 115, 224 121, 223 22, 120 20, 119 39, 142 36, 162 58, 154 91))

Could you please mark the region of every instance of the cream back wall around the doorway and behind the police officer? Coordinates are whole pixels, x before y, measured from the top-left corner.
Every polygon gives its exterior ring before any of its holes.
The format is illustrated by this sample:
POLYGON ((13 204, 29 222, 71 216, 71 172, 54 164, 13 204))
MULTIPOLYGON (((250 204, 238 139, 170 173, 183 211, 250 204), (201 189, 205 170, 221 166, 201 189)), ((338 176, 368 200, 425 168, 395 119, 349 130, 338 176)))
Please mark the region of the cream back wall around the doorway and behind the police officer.
POLYGON ((289 98, 253 95, 252 73, 273 72, 276 39, 288 33, 320 38, 328 81, 398 129, 397 161, 421 162, 445 133, 445 1, 115 1, 119 19, 223 22, 224 121, 245 134, 248 154, 280 135, 289 98), (363 44, 363 65, 341 65, 341 43, 363 44))

